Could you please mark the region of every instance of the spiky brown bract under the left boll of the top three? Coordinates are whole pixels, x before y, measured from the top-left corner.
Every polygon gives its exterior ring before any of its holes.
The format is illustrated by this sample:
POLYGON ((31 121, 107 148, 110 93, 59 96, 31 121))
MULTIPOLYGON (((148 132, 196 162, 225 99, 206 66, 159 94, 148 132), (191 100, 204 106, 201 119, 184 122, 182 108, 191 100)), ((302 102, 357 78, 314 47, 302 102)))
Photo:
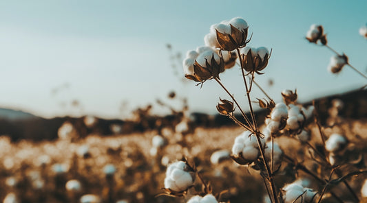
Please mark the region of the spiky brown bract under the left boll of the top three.
POLYGON ((205 82, 213 77, 219 79, 219 73, 224 71, 224 60, 220 57, 219 64, 214 58, 214 54, 211 56, 211 62, 205 59, 205 67, 202 67, 197 61, 193 64, 193 75, 185 75, 186 78, 194 80, 196 82, 205 82))

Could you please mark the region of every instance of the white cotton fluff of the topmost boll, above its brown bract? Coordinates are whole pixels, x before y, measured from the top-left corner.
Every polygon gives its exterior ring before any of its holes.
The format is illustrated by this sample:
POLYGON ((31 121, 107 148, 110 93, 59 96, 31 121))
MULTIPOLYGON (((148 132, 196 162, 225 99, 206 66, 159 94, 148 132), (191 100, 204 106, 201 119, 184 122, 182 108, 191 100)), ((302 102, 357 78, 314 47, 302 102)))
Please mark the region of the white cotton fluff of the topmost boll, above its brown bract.
POLYGON ((231 33, 231 25, 239 30, 244 30, 249 27, 247 22, 240 17, 235 17, 230 21, 222 21, 218 24, 211 25, 209 34, 205 35, 204 41, 205 45, 209 47, 221 48, 217 39, 217 31, 222 34, 232 34, 231 33))

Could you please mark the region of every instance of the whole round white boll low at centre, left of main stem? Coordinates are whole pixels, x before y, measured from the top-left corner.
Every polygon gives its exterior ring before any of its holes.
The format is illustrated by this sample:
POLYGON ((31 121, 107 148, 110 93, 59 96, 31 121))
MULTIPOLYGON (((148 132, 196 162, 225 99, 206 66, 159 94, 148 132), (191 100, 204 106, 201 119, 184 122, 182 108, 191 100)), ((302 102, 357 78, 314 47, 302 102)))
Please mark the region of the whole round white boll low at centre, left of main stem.
POLYGON ((193 177, 183 161, 168 165, 165 178, 165 188, 172 191, 185 191, 193 184, 193 177))

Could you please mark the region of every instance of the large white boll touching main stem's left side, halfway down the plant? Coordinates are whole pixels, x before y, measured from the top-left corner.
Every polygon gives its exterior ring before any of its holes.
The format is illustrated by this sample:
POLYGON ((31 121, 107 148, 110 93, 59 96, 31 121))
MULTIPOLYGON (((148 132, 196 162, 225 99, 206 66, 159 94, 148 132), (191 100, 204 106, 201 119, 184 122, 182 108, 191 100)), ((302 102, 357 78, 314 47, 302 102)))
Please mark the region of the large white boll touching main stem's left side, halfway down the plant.
MULTIPOLYGON (((261 139, 264 146, 265 141, 261 139)), ((232 147, 232 154, 236 158, 242 158, 246 163, 252 163, 260 156, 258 141, 250 131, 244 131, 235 138, 235 143, 232 147)))

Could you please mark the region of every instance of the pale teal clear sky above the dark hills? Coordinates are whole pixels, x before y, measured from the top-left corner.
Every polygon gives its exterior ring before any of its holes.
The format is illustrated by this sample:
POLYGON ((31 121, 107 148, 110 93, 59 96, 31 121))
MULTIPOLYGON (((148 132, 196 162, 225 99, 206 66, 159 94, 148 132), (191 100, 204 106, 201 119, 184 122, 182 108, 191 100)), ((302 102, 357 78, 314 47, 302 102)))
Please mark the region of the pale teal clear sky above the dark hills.
MULTIPOLYGON (((156 106, 156 99, 179 109, 180 102, 167 99, 175 91, 191 111, 216 113, 219 97, 229 97, 215 81, 200 88, 182 80, 181 62, 175 74, 170 55, 185 57, 204 45, 212 24, 236 16, 249 24, 248 46, 273 49, 255 81, 275 101, 284 89, 297 88, 300 101, 351 91, 366 80, 349 67, 329 73, 333 53, 304 38, 312 24, 323 25, 328 44, 366 73, 367 40, 358 30, 367 23, 367 1, 348 2, 0 1, 0 107, 47 118, 124 119, 134 108, 156 106)), ((220 77, 247 106, 240 69, 220 77)), ((254 87, 251 97, 264 95, 254 87)))

